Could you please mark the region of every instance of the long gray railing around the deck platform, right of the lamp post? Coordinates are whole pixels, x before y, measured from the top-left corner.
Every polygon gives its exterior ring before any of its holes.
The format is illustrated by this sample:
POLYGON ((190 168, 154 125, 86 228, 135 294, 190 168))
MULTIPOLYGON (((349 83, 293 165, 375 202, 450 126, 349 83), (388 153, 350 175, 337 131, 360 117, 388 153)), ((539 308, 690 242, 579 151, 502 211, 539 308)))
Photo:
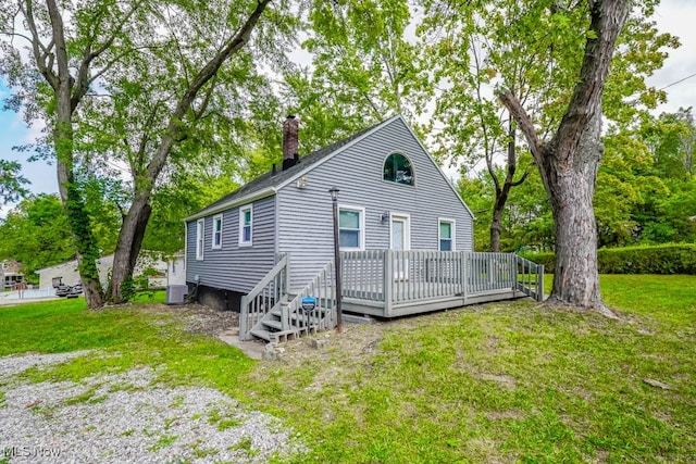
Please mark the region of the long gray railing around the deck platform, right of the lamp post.
POLYGON ((341 252, 343 296, 386 305, 517 290, 543 296, 544 266, 513 253, 341 252))

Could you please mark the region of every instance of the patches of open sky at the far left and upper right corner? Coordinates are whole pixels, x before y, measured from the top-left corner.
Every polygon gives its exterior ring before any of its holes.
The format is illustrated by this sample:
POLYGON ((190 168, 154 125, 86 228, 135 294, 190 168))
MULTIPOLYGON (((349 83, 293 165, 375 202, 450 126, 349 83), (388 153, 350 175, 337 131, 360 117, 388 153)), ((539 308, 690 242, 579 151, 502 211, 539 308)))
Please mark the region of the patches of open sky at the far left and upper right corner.
MULTIPOLYGON (((648 78, 648 85, 664 88, 668 102, 656 112, 675 112, 680 108, 696 106, 696 0, 662 0, 654 21, 661 32, 680 38, 682 46, 670 51, 664 66, 648 78), (684 80, 682 80, 684 79, 684 80), (682 81, 680 81, 682 80, 682 81)), ((9 96, 9 89, 0 79, 0 101, 9 96)), ((22 175, 32 184, 35 193, 58 192, 55 166, 46 161, 27 162, 29 154, 12 150, 12 147, 30 143, 40 131, 40 124, 27 127, 20 115, 2 111, 0 103, 0 158, 23 163, 22 175)), ((12 205, 0 205, 0 217, 4 217, 12 205)))

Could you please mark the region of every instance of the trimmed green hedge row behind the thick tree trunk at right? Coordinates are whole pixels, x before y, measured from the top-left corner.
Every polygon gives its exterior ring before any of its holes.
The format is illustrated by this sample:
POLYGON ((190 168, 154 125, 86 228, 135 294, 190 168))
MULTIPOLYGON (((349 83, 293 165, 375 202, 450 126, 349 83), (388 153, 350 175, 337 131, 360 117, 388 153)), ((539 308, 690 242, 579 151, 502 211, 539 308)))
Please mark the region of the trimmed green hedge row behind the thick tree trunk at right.
MULTIPOLYGON (((554 253, 520 253, 544 264, 554 274, 554 253)), ((600 274, 691 274, 696 275, 696 244, 670 243, 597 250, 600 274)))

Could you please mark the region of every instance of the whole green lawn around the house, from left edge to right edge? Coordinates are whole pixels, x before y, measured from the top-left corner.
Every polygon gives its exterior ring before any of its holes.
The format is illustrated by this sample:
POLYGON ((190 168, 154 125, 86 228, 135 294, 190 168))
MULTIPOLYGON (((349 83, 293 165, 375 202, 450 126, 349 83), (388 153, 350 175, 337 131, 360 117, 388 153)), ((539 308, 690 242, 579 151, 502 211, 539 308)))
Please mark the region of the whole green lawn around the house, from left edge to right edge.
POLYGON ((601 287, 623 322, 470 306, 349 326, 321 350, 290 344, 299 361, 284 363, 137 309, 0 306, 0 355, 119 354, 29 372, 37 380, 161 366, 162 381, 215 386, 286 419, 312 448, 297 462, 694 462, 696 276, 606 275, 601 287))

